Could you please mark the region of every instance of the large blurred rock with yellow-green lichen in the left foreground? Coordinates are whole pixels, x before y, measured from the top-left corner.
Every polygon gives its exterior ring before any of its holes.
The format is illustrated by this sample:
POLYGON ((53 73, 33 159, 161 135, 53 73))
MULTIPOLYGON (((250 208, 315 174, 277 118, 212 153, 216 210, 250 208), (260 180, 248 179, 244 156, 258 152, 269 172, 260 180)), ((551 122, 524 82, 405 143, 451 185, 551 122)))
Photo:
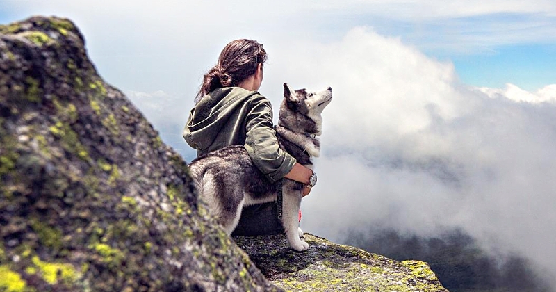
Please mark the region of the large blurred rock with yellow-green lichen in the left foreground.
POLYGON ((67 19, 0 26, 0 291, 279 291, 67 19))

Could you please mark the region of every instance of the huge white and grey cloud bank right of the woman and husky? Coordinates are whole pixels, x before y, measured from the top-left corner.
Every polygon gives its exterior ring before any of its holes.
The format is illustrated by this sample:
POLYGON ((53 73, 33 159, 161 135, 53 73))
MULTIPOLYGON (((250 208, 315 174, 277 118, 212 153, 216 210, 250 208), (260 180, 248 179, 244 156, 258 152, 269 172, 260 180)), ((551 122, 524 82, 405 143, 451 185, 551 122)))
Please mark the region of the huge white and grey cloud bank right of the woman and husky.
POLYGON ((307 231, 340 239, 371 224, 420 235, 460 227, 556 275, 556 103, 538 103, 554 100, 554 86, 483 88, 492 98, 459 84, 450 63, 369 29, 275 51, 266 86, 287 77, 334 91, 320 186, 303 204, 307 231))

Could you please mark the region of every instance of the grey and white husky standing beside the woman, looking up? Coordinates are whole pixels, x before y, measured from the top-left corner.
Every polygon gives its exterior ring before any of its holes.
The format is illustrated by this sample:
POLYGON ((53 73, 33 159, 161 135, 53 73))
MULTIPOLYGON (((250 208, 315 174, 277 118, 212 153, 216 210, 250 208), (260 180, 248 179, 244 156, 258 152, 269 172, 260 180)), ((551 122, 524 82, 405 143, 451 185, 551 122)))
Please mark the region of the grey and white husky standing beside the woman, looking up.
MULTIPOLYGON (((318 92, 305 89, 292 91, 284 83, 284 101, 280 106, 279 122, 275 126, 281 149, 311 168, 311 157, 319 156, 322 132, 322 110, 332 100, 332 88, 318 92)), ((238 225, 243 206, 277 200, 276 184, 270 184, 252 163, 243 145, 229 146, 200 156, 190 165, 197 189, 227 234, 238 225)), ((316 179, 316 176, 315 176, 316 179)), ((314 181, 316 182, 316 181, 314 181)), ((313 182, 313 183, 314 183, 313 182)), ((300 237, 298 210, 304 185, 284 179, 282 225, 288 246, 297 251, 307 250, 309 244, 300 237)), ((279 206, 280 210, 280 206, 279 206)))

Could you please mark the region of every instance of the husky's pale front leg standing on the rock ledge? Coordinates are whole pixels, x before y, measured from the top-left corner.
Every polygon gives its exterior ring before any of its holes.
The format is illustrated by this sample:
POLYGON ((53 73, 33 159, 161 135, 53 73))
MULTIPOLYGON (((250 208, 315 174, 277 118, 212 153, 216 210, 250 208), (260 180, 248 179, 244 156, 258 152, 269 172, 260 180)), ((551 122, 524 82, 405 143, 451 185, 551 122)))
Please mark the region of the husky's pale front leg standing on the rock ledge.
POLYGON ((286 231, 288 246, 293 250, 302 252, 309 248, 309 243, 302 241, 299 229, 299 211, 301 205, 301 190, 295 190, 294 181, 286 179, 284 181, 284 205, 282 215, 282 225, 286 231))

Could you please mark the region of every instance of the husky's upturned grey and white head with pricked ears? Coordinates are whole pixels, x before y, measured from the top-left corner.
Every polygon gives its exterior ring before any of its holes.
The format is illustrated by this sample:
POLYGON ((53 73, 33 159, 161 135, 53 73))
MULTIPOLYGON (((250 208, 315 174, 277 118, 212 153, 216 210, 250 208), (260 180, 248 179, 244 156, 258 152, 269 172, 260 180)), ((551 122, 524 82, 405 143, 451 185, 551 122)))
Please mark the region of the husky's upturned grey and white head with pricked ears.
POLYGON ((284 102, 280 108, 280 123, 284 126, 287 125, 286 127, 293 131, 320 135, 322 127, 320 114, 331 101, 332 88, 310 92, 306 89, 291 90, 288 83, 284 83, 284 102))

